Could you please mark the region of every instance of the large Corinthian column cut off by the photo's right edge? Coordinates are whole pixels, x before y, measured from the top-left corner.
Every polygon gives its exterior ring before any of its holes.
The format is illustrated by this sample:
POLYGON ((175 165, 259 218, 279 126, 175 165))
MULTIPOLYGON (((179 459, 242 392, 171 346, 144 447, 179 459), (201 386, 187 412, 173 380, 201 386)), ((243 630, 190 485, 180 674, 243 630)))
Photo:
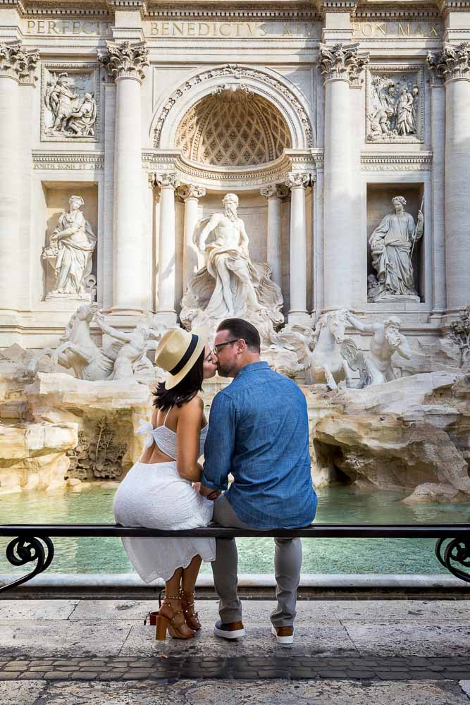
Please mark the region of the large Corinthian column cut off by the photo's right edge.
POLYGON ((445 80, 445 274, 447 309, 470 301, 470 51, 444 44, 428 56, 445 80))

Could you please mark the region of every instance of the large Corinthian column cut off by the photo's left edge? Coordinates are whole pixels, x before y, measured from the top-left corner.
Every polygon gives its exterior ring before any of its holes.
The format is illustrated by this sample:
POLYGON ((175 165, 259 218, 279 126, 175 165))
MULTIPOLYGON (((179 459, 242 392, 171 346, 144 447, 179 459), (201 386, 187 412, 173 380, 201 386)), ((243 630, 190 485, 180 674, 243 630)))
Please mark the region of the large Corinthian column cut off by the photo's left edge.
MULTIPOLYGON (((18 308, 20 264, 20 96, 31 82, 39 54, 18 42, 0 43, 0 307, 18 308)), ((31 154, 29 155, 31 159, 31 154)))

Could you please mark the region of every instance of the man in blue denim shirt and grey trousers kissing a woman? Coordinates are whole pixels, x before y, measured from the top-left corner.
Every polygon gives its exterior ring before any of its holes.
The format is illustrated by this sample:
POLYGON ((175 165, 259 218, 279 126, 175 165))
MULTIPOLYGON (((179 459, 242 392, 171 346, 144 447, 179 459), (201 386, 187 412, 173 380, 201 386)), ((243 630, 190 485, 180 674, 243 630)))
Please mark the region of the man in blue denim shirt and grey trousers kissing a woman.
MULTIPOLYGON (((310 475, 307 403, 295 382, 259 359, 256 328, 226 319, 217 329, 218 374, 233 377, 212 402, 204 446, 202 494, 224 492, 214 505, 214 522, 239 528, 293 529, 315 516, 310 475), (233 483, 228 487, 228 474, 233 483)), ((300 539, 275 539, 276 597, 271 631, 280 644, 293 642, 295 603, 302 565, 300 539)), ((221 620, 214 633, 245 635, 237 597, 235 540, 218 541, 212 564, 221 620)))

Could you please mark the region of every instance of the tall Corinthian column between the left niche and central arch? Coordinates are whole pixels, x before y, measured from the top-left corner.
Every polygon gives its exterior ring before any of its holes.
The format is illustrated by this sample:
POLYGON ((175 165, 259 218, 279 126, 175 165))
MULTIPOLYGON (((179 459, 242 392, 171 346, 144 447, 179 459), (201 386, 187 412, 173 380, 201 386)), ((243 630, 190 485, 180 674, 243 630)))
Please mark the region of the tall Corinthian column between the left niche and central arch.
POLYGON ((98 58, 116 81, 113 312, 142 311, 142 156, 140 86, 149 66, 144 42, 106 42, 98 58))

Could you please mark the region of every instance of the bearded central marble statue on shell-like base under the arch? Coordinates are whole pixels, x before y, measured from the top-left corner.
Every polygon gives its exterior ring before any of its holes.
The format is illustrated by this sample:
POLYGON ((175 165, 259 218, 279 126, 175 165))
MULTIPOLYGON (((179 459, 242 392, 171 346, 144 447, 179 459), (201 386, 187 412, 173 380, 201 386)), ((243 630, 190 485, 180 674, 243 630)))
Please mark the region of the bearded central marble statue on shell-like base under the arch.
POLYGON ((190 281, 180 319, 188 328, 206 324, 215 331, 225 318, 245 318, 269 344, 274 327, 284 321, 280 288, 271 281, 268 264, 249 258, 245 223, 237 215, 237 195, 225 195, 223 207, 223 212, 214 213, 194 233, 194 245, 204 255, 205 266, 190 281))

